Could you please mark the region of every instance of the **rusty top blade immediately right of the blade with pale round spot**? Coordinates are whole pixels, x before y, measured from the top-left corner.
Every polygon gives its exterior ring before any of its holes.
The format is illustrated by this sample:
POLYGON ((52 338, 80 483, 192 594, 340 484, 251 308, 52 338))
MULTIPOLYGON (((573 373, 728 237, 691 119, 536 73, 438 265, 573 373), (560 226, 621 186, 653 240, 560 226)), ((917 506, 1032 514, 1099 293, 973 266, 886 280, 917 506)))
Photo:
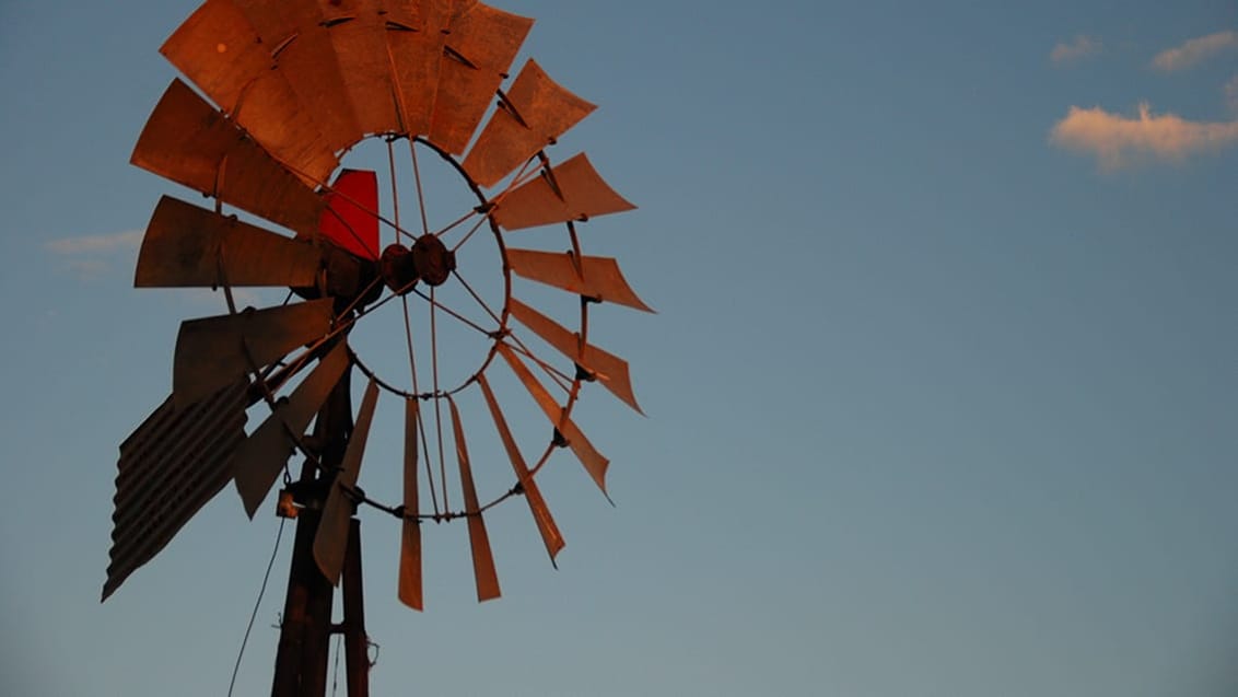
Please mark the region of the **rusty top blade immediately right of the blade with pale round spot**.
POLYGON ((334 152, 361 140, 347 80, 317 2, 232 0, 271 51, 271 63, 334 152))

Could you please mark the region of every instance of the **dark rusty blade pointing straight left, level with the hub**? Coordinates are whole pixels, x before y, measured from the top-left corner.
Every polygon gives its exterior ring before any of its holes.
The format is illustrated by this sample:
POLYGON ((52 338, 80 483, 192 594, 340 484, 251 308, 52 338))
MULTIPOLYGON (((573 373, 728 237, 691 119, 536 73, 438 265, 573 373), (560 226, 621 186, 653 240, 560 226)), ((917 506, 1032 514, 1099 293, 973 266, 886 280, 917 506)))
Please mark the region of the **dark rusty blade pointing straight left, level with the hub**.
POLYGON ((134 286, 305 287, 314 284, 321 256, 308 241, 165 196, 146 227, 134 286))

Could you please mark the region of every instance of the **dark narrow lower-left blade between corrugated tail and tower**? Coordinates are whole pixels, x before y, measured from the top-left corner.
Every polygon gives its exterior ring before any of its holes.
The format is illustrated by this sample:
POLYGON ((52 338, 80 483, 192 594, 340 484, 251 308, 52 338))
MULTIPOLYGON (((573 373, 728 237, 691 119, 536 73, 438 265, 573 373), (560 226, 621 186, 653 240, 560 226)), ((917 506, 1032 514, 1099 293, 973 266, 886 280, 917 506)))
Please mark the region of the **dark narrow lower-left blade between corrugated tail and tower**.
POLYGON ((348 349, 342 343, 318 361, 292 396, 276 402, 275 411, 238 448, 232 462, 233 478, 250 517, 287 464, 296 438, 306 432, 347 368, 348 349))

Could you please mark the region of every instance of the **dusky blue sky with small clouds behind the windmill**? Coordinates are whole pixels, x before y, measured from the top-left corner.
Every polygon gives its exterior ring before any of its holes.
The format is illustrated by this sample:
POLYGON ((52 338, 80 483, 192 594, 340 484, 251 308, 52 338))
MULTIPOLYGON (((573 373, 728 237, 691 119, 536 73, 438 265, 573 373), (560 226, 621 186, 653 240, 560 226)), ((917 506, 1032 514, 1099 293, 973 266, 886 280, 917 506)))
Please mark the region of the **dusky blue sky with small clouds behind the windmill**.
MULTIPOLYGON (((587 389, 617 505, 556 454, 567 547, 495 509, 501 599, 427 526, 404 608, 363 513, 374 695, 1238 693, 1238 5, 494 4, 599 104, 552 158, 639 206, 582 243, 657 310, 591 317, 647 416, 587 389)), ((0 693, 227 693, 276 541, 224 490, 99 603, 116 448, 227 311, 131 287, 158 198, 199 201, 129 165, 196 6, 0 0, 0 693)))

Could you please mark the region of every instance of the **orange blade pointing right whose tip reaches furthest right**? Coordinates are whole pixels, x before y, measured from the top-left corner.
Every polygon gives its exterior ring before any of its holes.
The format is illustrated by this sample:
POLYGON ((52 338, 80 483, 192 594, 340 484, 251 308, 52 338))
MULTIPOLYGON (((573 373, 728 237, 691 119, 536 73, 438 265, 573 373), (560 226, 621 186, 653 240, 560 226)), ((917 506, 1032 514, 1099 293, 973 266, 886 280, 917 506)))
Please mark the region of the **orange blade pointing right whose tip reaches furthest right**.
POLYGON ((654 310, 644 303, 628 285, 619 262, 609 256, 582 256, 579 269, 571 251, 552 253, 530 249, 508 249, 508 264, 519 275, 579 293, 592 300, 626 305, 645 312, 654 310))

